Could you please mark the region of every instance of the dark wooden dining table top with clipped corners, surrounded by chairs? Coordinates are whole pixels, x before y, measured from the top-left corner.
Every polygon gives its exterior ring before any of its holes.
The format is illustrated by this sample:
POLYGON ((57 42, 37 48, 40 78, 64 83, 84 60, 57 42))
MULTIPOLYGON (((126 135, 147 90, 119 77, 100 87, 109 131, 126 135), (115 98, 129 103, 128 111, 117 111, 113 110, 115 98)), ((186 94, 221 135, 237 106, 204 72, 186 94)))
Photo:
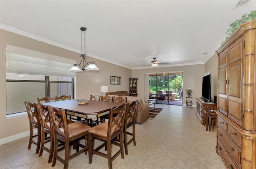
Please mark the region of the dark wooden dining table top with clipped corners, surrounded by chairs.
POLYGON ((66 114, 77 116, 78 118, 92 119, 106 116, 110 108, 122 105, 117 102, 102 102, 89 100, 86 104, 79 104, 76 100, 63 100, 56 102, 47 102, 44 105, 50 105, 59 109, 64 108, 66 114))

